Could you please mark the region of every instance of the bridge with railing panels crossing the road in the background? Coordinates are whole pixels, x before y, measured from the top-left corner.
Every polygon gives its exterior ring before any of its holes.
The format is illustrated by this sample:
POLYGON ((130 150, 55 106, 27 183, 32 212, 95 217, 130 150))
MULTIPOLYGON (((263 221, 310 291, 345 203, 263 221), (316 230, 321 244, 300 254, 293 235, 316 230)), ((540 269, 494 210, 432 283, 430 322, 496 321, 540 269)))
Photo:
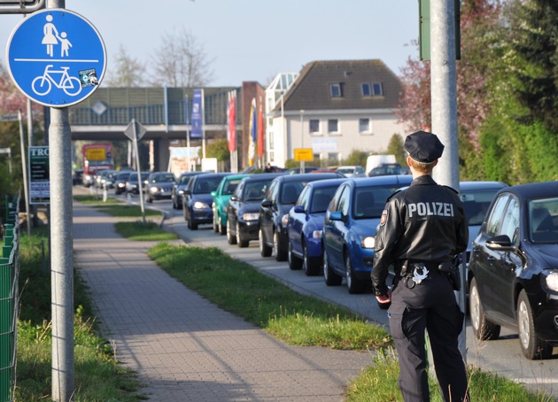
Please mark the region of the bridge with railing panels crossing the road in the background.
MULTIPOLYGON (((205 141, 227 136, 227 102, 238 87, 204 88, 205 141)), ((190 115, 194 89, 190 88, 99 88, 80 104, 69 107, 73 141, 129 141, 124 134, 132 119, 150 141, 154 170, 167 170, 171 144, 185 146, 191 130, 190 115)), ((238 110, 238 109, 237 109, 238 110)), ((243 130, 243 113, 236 113, 237 130, 243 130)), ((242 137, 240 135, 239 137, 242 137)), ((201 146, 202 139, 191 138, 190 146, 201 146)))

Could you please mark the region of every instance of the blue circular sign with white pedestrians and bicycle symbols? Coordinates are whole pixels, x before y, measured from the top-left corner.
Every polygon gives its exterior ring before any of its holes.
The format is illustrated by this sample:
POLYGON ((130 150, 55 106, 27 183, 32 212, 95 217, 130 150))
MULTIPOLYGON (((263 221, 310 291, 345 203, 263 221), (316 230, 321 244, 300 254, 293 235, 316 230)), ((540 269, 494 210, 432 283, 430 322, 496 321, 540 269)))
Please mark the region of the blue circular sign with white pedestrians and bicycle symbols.
POLYGON ((46 9, 13 29, 6 63, 15 84, 36 103, 71 106, 89 97, 103 80, 105 43, 81 15, 46 9))

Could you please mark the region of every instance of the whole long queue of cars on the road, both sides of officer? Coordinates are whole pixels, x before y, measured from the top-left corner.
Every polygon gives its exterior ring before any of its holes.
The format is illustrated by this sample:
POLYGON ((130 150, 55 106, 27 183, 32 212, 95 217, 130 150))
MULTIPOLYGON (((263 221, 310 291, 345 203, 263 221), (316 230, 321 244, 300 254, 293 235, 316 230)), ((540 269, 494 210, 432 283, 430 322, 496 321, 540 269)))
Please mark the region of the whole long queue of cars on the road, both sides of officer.
MULTIPOLYGON (((113 175, 115 192, 122 192, 125 174, 113 175)), ((322 274, 328 286, 345 281, 349 293, 371 290, 374 236, 385 201, 412 182, 408 174, 171 176, 149 175, 146 197, 172 198, 190 229, 212 224, 239 247, 258 241, 262 257, 286 259, 306 275, 322 274), (156 184, 159 177, 171 188, 156 184)), ((136 172, 128 174, 125 190, 139 190, 136 172), (128 187, 134 180, 136 186, 128 187)), ((558 345, 557 182, 461 182, 460 199, 469 226, 465 267, 475 335, 492 340, 501 327, 514 329, 527 359, 549 358, 558 345)))

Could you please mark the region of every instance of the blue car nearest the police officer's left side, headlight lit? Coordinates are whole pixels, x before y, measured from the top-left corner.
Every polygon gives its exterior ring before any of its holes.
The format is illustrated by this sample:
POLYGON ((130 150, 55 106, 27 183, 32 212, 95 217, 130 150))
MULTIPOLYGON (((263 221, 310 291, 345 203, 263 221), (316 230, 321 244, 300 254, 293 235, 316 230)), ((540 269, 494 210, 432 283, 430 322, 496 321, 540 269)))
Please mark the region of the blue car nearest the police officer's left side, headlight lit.
POLYGON ((328 286, 346 279, 349 293, 372 290, 374 236, 385 201, 408 186, 411 175, 392 174, 349 179, 337 189, 326 212, 323 240, 323 277, 328 286))

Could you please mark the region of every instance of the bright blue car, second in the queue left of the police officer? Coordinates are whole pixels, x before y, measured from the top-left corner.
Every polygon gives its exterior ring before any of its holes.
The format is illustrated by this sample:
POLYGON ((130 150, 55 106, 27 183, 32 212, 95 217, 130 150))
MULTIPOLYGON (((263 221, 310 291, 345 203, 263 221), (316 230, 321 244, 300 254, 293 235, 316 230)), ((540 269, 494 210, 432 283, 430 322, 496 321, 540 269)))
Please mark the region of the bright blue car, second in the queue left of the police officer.
POLYGON ((306 275, 322 272, 323 218, 335 191, 346 179, 309 182, 289 212, 289 267, 303 268, 306 275))

